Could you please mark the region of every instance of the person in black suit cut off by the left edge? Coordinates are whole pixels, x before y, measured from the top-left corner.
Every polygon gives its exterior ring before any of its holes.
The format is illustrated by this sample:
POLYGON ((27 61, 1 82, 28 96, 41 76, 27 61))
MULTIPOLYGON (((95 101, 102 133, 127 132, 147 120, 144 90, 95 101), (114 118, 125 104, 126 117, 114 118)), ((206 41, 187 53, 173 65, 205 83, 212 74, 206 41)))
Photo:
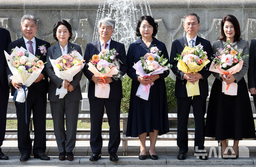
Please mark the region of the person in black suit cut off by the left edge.
MULTIPOLYGON (((5 137, 5 128, 6 128, 6 113, 7 105, 9 100, 9 89, 7 76, 6 76, 6 58, 4 50, 7 51, 7 46, 11 42, 10 32, 4 28, 0 28, 0 147, 5 137)), ((8 160, 9 157, 2 153, 0 148, 0 160, 8 160)))

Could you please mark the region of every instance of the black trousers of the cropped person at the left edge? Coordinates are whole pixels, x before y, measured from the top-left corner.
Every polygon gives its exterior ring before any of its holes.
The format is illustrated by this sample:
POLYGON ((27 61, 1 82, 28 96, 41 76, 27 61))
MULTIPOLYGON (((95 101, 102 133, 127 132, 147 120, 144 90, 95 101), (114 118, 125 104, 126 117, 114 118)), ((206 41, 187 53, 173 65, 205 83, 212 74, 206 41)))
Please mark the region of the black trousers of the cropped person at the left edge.
MULTIPOLYGON (((7 105, 9 100, 9 91, 6 91, 2 88, 0 83, 0 147, 5 138, 5 129, 6 129, 6 113, 7 105)), ((1 151, 1 148, 0 148, 1 151)))

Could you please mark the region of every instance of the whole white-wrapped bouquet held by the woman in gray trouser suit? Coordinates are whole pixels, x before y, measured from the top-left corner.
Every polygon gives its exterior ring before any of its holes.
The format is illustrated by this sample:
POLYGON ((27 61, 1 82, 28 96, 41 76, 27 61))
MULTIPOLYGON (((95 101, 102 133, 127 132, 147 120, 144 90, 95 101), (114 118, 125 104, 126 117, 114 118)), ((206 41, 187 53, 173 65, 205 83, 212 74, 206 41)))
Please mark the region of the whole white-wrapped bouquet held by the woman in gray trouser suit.
POLYGON ((62 99, 68 90, 64 88, 65 80, 72 81, 73 77, 82 70, 85 63, 84 58, 81 54, 73 50, 71 53, 64 54, 57 59, 50 59, 52 63, 53 70, 56 76, 63 79, 63 86, 56 89, 56 94, 59 95, 59 99, 62 99))

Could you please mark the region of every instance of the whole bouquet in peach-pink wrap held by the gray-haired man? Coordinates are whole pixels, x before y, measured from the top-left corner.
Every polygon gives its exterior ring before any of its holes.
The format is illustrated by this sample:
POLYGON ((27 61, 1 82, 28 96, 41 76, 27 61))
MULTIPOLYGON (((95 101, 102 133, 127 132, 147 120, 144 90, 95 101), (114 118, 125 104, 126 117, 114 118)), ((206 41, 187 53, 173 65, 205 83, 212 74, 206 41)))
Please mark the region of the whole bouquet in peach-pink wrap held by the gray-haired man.
POLYGON ((108 98, 110 94, 110 85, 106 84, 106 77, 113 77, 114 80, 122 80, 122 72, 119 70, 122 63, 116 56, 119 53, 113 48, 111 50, 103 49, 99 54, 94 54, 88 63, 88 70, 90 70, 94 76, 100 77, 104 83, 95 84, 95 97, 108 98))

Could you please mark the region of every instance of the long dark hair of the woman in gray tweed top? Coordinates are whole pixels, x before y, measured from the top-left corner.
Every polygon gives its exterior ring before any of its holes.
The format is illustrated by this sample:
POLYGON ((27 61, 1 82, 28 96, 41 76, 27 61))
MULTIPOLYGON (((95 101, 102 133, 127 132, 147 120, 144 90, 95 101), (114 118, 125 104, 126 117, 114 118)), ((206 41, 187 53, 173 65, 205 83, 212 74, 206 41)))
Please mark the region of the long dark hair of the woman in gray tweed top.
POLYGON ((219 40, 226 41, 226 35, 224 33, 224 24, 225 24, 226 21, 231 22, 234 25, 234 29, 235 29, 234 42, 239 41, 240 40, 240 36, 241 36, 240 25, 239 25, 238 19, 236 19, 236 17, 233 16, 233 15, 226 15, 222 19, 221 30, 220 30, 222 36, 220 37, 219 40))

